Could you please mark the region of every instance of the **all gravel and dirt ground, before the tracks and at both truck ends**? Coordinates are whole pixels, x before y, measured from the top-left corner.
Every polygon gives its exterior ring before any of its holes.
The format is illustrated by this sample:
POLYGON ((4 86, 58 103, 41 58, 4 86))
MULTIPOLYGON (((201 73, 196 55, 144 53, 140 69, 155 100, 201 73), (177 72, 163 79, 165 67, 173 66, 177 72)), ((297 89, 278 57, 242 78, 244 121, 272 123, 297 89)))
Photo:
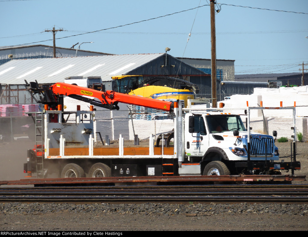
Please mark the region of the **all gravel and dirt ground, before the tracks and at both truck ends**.
MULTIPOLYGON (((291 144, 275 144, 280 159, 290 161, 291 144)), ((23 178, 22 165, 29 147, 33 144, 0 143, 4 157, 0 167, 1 180, 23 178)), ((308 143, 297 143, 301 170, 295 171, 295 175, 308 176, 307 151, 308 143)), ((290 175, 291 171, 282 174, 290 175)), ((0 226, 2 231, 307 231, 308 203, 0 203, 0 226)))

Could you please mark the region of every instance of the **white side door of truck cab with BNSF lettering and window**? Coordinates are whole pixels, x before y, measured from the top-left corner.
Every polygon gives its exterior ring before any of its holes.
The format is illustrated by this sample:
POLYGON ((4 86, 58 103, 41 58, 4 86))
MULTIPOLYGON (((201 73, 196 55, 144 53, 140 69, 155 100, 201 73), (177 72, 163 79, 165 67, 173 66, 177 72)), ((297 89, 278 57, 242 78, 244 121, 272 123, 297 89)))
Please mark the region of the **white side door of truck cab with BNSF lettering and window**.
POLYGON ((185 152, 188 156, 203 156, 209 146, 209 132, 201 114, 186 114, 185 121, 185 152))

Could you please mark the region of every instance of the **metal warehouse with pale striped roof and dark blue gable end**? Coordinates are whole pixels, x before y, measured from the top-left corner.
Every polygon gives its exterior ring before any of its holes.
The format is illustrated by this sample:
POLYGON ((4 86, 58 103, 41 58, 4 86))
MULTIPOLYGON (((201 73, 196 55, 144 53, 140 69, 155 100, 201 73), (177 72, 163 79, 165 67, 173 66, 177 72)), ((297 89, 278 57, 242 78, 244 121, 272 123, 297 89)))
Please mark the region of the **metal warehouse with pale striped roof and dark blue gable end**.
MULTIPOLYGON (((24 80, 40 84, 63 82, 67 77, 101 77, 106 90, 112 89, 112 76, 171 76, 197 84, 200 94, 211 94, 209 74, 181 62, 170 54, 126 54, 73 58, 10 60, 0 65, 0 103, 29 104, 24 80)), ((217 80, 219 86, 220 80, 217 80)))

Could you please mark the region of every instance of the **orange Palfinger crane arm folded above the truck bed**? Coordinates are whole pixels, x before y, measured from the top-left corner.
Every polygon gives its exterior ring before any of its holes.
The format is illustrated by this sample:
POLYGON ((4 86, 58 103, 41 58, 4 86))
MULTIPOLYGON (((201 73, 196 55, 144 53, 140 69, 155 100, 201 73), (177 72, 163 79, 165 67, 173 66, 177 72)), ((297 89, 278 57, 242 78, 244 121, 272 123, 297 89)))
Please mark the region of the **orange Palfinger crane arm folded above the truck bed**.
POLYGON ((173 111, 172 102, 122 94, 112 90, 107 90, 106 92, 93 90, 62 82, 55 83, 52 86, 43 85, 42 87, 39 87, 37 82, 30 82, 30 84, 26 82, 26 88, 32 95, 39 94, 40 100, 37 100, 37 102, 48 104, 50 107, 56 107, 58 104, 61 104, 61 97, 65 95, 110 110, 119 110, 118 103, 121 102, 158 110, 173 111), (99 101, 89 97, 97 98, 99 101))

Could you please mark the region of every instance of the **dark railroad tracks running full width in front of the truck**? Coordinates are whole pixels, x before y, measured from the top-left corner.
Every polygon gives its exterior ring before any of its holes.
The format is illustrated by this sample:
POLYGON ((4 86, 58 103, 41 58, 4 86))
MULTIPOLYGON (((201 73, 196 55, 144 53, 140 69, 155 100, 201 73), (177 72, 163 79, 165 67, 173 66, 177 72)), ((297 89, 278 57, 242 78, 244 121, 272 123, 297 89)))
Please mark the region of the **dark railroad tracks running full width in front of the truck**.
POLYGON ((2 202, 307 203, 308 185, 177 185, 0 188, 2 202))

